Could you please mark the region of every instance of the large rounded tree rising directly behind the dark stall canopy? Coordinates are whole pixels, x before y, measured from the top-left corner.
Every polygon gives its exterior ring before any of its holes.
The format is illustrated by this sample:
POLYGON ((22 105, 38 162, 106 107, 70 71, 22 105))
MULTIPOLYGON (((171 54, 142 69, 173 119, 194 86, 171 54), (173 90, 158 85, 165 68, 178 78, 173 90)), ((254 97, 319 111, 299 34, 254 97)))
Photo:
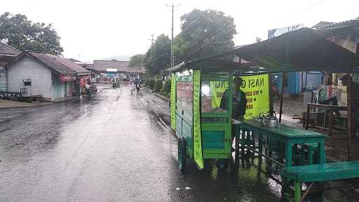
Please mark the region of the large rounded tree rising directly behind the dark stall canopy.
POLYGON ((181 32, 175 37, 175 64, 214 55, 233 48, 236 25, 221 11, 194 9, 181 17, 181 32))

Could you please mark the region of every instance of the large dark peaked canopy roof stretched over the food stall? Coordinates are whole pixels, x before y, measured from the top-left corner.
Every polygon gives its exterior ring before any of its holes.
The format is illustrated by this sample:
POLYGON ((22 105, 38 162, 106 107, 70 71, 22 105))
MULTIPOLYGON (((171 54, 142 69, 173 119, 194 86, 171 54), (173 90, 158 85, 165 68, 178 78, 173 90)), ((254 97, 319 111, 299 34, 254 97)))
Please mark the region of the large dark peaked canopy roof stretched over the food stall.
POLYGON ((184 69, 243 74, 302 71, 359 73, 359 54, 327 41, 313 29, 302 28, 218 55, 182 62, 168 70, 180 72, 184 69), (241 61, 233 60, 236 56, 248 62, 236 62, 241 61))

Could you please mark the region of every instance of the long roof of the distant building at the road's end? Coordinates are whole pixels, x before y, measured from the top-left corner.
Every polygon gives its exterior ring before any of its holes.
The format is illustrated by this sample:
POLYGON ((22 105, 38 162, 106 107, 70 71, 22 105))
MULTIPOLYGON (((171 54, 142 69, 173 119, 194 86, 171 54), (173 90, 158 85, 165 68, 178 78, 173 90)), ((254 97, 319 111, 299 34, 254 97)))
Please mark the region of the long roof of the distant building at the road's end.
POLYGON ((107 69, 117 69, 117 72, 144 73, 143 67, 128 67, 130 62, 117 60, 93 60, 93 69, 107 72, 107 69))

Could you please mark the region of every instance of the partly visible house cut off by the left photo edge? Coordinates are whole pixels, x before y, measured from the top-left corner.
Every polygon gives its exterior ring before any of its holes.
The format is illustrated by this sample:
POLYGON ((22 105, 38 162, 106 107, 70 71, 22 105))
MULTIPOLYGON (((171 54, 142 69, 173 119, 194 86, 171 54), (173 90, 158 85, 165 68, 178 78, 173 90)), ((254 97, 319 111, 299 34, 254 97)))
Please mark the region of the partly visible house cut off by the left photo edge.
POLYGON ((5 66, 20 55, 21 51, 0 42, 0 90, 7 90, 8 83, 5 66))

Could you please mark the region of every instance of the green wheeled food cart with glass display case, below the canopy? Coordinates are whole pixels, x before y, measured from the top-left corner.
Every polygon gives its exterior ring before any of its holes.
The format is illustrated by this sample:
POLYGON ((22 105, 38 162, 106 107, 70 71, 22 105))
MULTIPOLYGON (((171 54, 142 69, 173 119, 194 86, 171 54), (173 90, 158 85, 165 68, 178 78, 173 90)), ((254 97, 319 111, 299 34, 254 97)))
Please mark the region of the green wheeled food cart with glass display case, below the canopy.
MULTIPOLYGON (((175 133, 179 138, 179 168, 184 170, 187 156, 194 159, 199 169, 203 159, 229 159, 231 157, 231 108, 213 107, 210 90, 212 83, 221 83, 231 96, 230 74, 205 74, 201 70, 190 71, 172 77, 175 81, 176 102, 175 133)), ((173 89, 173 88, 172 88, 173 89)), ((231 99, 229 106, 231 106, 231 99)))

